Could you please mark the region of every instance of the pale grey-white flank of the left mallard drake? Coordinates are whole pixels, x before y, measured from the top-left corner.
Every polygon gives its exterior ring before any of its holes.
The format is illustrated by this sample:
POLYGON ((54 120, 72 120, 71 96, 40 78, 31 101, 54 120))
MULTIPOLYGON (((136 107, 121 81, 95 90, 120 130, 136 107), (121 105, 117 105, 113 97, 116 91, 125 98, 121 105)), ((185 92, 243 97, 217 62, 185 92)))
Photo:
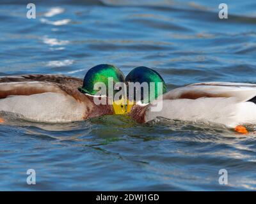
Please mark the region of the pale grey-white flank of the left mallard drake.
POLYGON ((84 105, 72 96, 45 92, 0 99, 0 112, 11 112, 40 122, 69 122, 83 120, 84 105))

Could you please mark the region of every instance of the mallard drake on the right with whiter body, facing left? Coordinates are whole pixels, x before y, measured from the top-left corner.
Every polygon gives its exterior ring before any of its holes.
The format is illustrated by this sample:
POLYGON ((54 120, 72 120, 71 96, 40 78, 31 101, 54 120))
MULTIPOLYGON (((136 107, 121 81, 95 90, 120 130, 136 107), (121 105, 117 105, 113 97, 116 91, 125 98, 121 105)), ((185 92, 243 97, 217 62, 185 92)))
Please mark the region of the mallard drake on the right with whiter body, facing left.
MULTIPOLYGON (((163 78, 150 68, 139 67, 131 71, 125 82, 163 82, 163 78), (141 74, 143 73, 143 74, 141 74), (140 75, 140 78, 136 77, 140 75)), ((142 96, 142 95, 141 95, 142 96)), ((232 82, 205 82, 190 84, 155 95, 149 103, 136 101, 129 115, 137 122, 148 122, 156 117, 188 120, 191 122, 216 123, 236 128, 256 123, 256 84, 232 82), (159 111, 152 107, 161 105, 159 111)))

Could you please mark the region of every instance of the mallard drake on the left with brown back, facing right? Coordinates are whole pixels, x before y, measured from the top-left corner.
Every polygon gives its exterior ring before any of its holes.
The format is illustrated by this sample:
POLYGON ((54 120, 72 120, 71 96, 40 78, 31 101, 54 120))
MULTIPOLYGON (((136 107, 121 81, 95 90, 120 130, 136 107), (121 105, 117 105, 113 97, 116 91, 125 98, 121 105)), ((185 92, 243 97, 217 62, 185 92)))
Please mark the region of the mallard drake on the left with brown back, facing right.
POLYGON ((95 105, 93 101, 93 84, 101 82, 108 87, 109 77, 113 85, 124 82, 122 71, 109 64, 91 68, 84 80, 65 75, 1 77, 0 112, 38 122, 70 122, 113 114, 113 105, 95 105))

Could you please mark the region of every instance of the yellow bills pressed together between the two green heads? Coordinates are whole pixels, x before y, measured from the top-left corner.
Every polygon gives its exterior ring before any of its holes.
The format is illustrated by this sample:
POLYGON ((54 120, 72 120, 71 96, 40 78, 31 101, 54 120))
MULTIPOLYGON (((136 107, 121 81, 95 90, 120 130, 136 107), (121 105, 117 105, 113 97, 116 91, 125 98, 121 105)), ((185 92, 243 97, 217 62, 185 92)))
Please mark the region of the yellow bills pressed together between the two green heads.
POLYGON ((113 101, 113 112, 115 115, 125 115, 131 112, 133 105, 133 101, 129 101, 125 98, 113 101))

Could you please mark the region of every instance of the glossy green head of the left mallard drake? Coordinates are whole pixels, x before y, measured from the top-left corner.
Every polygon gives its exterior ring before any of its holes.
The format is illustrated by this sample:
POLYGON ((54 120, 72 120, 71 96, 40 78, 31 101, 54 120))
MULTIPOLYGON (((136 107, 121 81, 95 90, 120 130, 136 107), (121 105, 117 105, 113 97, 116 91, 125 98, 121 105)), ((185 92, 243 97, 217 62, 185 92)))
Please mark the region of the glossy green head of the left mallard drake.
POLYGON ((93 87, 97 82, 104 83, 106 85, 106 92, 108 93, 109 78, 113 78, 113 85, 116 82, 124 82, 124 74, 120 69, 110 64, 99 64, 89 69, 84 76, 83 87, 79 87, 78 90, 95 95, 99 90, 94 90, 93 87))

